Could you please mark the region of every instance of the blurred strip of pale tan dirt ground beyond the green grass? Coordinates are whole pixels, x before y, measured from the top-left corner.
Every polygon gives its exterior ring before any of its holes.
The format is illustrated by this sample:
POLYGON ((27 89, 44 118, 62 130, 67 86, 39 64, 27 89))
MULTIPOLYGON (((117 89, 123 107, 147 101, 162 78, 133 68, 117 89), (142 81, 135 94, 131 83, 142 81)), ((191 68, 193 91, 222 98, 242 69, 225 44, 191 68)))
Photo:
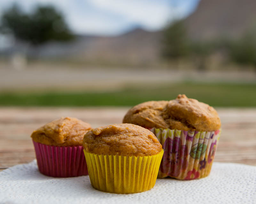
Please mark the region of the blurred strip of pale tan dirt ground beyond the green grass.
POLYGON ((109 69, 71 66, 30 65, 13 69, 0 63, 0 91, 118 90, 124 86, 197 82, 256 82, 250 71, 193 71, 168 69, 109 69))

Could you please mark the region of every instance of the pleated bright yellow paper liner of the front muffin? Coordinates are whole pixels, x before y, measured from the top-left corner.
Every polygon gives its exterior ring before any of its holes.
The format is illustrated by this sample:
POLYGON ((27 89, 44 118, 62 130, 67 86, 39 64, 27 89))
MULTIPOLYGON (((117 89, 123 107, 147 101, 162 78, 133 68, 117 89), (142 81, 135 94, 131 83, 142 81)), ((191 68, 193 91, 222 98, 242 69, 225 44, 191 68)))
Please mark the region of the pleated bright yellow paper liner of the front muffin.
POLYGON ((163 153, 130 157, 84 150, 92 186, 108 193, 139 193, 153 188, 163 153))

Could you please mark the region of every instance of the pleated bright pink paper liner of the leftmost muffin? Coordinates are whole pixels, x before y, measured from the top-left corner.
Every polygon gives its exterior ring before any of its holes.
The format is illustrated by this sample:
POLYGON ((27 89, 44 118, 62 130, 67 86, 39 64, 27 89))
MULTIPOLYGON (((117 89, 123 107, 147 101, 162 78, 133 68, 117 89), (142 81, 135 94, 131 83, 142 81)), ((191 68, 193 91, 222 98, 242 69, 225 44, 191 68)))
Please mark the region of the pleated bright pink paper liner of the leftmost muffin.
POLYGON ((58 147, 33 141, 39 171, 52 177, 88 175, 83 146, 58 147))

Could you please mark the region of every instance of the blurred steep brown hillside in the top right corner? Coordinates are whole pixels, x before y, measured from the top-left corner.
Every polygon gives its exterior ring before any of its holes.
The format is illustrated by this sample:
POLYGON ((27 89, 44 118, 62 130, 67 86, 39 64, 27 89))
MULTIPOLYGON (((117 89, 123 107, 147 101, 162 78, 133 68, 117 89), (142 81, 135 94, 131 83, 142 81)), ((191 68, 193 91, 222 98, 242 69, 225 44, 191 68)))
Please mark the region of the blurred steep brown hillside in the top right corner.
POLYGON ((185 19, 192 39, 236 38, 255 22, 255 0, 201 0, 196 11, 185 19))

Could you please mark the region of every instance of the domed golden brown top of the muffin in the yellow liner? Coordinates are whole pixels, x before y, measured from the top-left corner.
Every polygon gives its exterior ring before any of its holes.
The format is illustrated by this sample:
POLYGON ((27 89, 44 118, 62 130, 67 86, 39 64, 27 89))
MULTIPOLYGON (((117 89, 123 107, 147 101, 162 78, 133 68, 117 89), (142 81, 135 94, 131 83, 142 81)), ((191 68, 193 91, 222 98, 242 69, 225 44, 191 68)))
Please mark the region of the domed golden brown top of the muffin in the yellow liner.
POLYGON ((84 135, 87 152, 103 155, 151 156, 162 150, 156 136, 133 124, 114 124, 89 130, 84 135))

